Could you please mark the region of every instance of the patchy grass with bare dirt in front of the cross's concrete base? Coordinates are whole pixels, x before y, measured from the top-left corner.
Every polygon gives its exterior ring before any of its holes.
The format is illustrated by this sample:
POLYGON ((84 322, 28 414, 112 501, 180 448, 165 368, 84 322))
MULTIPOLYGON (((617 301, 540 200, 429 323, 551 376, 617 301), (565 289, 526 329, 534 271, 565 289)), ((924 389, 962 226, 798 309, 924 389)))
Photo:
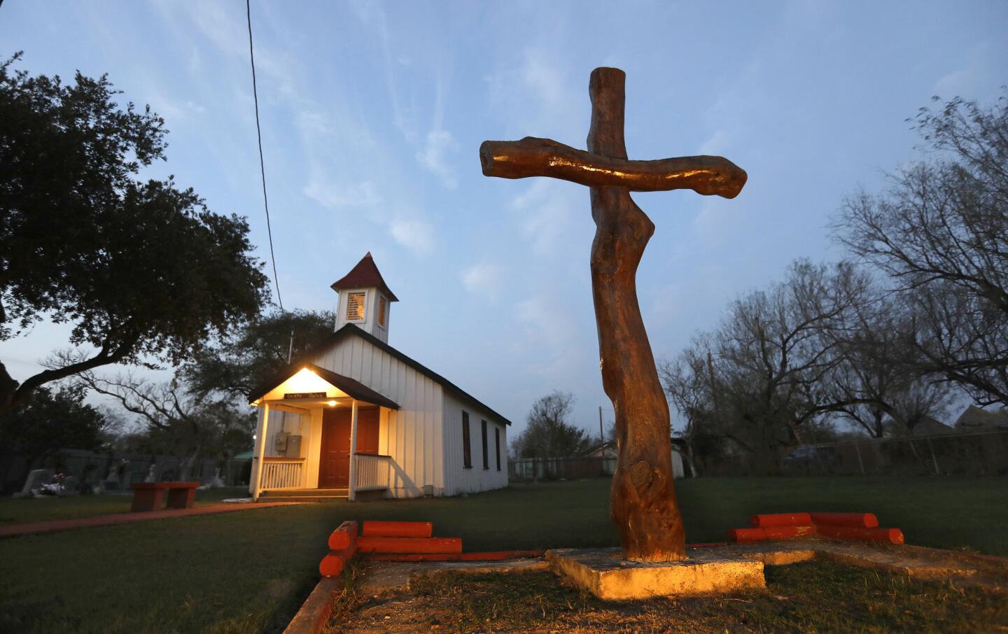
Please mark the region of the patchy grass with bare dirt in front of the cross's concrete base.
MULTIPOLYGON (((766 568, 769 592, 604 602, 547 570, 414 578, 411 592, 334 614, 328 632, 414 631, 980 632, 1008 627, 1008 601, 905 576, 814 559, 766 568), (391 620, 390 619, 390 620, 391 620)), ((348 606, 349 607, 349 606, 348 606)), ((343 608, 343 606, 341 606, 343 608)))

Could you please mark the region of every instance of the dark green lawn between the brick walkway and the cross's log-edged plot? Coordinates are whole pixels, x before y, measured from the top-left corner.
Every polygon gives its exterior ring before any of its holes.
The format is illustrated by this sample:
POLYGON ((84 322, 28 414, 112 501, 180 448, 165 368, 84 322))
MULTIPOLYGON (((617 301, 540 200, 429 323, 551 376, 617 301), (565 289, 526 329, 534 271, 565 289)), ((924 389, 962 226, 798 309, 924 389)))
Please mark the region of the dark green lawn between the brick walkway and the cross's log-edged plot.
MULTIPOLYGON (((463 537, 466 550, 616 545, 608 484, 518 485, 469 498, 253 509, 0 539, 0 631, 282 629, 318 581, 327 535, 345 519, 433 521, 436 535, 463 537)), ((689 541, 722 541, 754 512, 872 511, 910 543, 1008 555, 1006 478, 676 484, 689 541)), ((16 505, 39 503, 82 504, 4 500, 0 515, 38 519, 16 505)), ((48 507, 46 518, 57 509, 48 507)))

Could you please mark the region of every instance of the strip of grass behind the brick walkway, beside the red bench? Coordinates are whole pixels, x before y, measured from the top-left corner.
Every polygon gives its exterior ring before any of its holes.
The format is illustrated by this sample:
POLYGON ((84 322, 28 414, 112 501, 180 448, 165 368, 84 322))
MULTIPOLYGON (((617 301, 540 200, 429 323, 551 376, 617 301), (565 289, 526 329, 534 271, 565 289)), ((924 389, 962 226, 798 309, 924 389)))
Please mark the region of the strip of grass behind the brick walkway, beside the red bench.
MULTIPOLYGON (((196 492, 196 506, 218 504, 225 498, 248 497, 246 487, 196 492)), ((52 519, 128 513, 132 495, 76 495, 66 498, 0 498, 0 524, 45 522, 52 519)))

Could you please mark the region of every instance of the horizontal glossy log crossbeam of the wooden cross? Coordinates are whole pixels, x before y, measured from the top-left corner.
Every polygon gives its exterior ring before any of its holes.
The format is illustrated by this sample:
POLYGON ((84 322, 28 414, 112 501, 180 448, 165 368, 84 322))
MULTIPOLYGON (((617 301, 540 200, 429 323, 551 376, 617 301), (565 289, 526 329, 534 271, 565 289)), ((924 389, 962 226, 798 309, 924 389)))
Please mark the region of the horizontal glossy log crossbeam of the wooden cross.
POLYGON ((738 196, 748 177, 744 169, 721 156, 628 160, 531 136, 520 141, 484 141, 480 145, 480 162, 485 176, 550 176, 593 187, 615 185, 632 192, 692 189, 726 199, 738 196))

